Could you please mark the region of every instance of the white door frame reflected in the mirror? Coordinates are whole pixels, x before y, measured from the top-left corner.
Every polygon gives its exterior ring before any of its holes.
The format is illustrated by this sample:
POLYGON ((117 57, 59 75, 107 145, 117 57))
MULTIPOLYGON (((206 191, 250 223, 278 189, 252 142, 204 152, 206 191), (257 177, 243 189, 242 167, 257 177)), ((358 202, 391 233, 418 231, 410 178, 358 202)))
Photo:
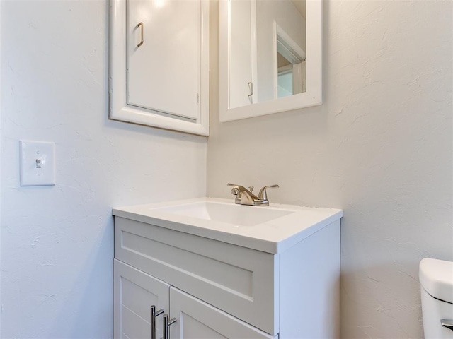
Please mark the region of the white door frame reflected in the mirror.
MULTIPOLYGON (((281 28, 274 20, 274 50, 273 50, 273 67, 274 72, 274 99, 278 98, 278 76, 280 75, 278 67, 277 54, 282 54, 292 67, 292 89, 293 93, 302 93, 302 62, 306 59, 306 53, 292 38, 281 28)), ((287 71, 289 73, 289 70, 287 71)))

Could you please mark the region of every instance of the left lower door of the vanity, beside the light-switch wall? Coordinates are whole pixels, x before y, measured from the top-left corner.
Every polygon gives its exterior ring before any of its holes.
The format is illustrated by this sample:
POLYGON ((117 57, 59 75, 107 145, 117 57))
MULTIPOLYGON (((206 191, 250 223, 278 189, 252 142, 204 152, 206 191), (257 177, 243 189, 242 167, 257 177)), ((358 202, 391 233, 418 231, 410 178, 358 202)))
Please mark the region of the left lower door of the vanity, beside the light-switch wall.
MULTIPOLYGON (((169 285, 114 259, 113 338, 151 338, 151 305, 168 310, 169 285)), ((162 316, 156 318, 156 338, 161 338, 162 316)))

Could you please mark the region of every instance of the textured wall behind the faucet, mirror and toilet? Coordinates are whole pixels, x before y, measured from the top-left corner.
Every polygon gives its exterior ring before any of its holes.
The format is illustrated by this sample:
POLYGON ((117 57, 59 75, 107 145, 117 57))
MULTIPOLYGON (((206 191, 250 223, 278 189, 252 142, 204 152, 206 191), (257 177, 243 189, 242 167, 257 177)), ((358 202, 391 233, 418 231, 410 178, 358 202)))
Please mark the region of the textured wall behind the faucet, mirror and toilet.
POLYGON ((344 209, 342 338, 423 337, 418 263, 453 261, 452 6, 324 0, 324 104, 222 124, 211 8, 208 196, 344 209))

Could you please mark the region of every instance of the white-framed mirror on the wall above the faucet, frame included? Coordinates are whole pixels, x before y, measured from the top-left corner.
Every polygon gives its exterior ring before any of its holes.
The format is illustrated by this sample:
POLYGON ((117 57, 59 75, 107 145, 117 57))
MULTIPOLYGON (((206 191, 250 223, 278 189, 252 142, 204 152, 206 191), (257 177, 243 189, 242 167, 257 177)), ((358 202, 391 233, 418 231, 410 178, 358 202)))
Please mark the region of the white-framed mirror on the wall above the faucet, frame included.
POLYGON ((322 103, 322 0, 220 0, 220 121, 322 103))

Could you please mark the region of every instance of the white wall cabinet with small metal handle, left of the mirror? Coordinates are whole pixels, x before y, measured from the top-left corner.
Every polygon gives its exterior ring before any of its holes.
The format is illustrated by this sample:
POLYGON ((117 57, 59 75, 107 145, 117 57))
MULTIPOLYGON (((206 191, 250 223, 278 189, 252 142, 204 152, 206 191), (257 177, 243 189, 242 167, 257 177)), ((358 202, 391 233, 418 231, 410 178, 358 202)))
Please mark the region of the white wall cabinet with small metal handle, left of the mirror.
POLYGON ((110 0, 109 117, 209 134, 209 1, 110 0))

